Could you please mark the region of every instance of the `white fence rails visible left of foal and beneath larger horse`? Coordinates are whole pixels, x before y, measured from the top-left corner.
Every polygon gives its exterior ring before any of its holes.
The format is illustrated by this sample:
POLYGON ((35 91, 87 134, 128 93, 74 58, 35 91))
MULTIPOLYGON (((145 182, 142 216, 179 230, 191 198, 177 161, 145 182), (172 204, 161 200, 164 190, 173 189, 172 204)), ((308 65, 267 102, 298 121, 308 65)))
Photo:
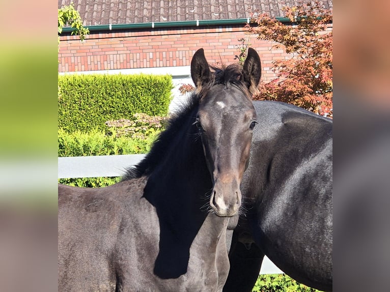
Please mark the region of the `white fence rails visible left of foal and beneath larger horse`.
MULTIPOLYGON (((58 178, 119 177, 145 154, 59 157, 58 178)), ((268 257, 264 257, 260 274, 283 274, 268 257)))

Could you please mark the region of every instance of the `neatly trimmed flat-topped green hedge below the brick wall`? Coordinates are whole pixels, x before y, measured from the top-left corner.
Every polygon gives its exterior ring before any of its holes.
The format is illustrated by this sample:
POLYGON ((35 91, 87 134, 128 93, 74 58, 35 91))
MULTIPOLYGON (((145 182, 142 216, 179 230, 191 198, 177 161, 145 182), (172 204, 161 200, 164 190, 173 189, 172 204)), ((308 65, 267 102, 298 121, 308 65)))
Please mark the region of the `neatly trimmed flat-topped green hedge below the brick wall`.
POLYGON ((103 130, 108 120, 137 112, 166 115, 172 99, 170 75, 59 75, 58 127, 71 133, 103 130))

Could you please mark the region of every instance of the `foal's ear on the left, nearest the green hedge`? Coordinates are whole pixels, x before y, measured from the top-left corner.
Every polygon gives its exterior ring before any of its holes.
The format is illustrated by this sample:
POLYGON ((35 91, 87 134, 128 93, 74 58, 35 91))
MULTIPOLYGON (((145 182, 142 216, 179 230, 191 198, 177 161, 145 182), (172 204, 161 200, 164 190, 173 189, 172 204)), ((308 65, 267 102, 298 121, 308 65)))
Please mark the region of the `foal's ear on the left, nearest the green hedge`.
POLYGON ((206 61, 205 52, 203 49, 197 50, 191 60, 191 77, 197 87, 197 91, 201 90, 202 85, 205 85, 210 80, 210 68, 206 61))

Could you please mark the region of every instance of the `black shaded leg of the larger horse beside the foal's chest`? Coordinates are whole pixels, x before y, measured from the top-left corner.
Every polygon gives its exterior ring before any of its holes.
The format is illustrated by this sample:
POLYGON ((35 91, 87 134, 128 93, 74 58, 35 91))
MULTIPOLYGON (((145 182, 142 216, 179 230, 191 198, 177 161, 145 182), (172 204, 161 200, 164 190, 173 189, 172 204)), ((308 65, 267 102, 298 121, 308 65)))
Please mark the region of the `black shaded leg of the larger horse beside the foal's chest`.
POLYGON ((229 252, 230 271, 224 292, 250 292, 259 277, 264 253, 235 230, 229 252))

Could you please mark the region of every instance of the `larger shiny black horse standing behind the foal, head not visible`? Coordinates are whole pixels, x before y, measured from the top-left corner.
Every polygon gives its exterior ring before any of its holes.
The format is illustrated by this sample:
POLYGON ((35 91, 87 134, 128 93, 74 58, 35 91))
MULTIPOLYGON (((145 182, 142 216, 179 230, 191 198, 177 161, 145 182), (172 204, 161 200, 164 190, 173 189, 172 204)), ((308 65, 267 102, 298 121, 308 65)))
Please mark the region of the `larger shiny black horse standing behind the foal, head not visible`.
POLYGON ((257 122, 224 291, 252 291, 264 254, 308 286, 332 290, 332 121, 255 101, 257 122))

